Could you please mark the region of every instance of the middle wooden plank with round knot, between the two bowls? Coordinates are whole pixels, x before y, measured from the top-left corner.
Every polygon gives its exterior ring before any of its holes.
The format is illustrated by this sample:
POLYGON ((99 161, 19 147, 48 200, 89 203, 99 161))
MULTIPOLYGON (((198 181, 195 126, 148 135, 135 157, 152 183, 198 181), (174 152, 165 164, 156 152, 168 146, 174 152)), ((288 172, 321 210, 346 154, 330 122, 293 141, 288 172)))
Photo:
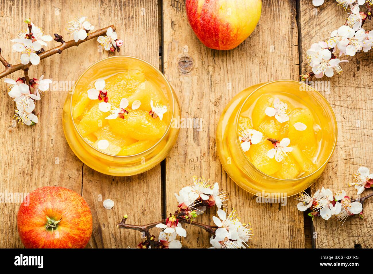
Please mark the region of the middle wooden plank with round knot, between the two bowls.
MULTIPOLYGON (((264 0, 257 29, 237 48, 217 51, 198 41, 186 18, 182 1, 163 1, 164 72, 175 89, 184 118, 201 118, 203 128, 181 129, 179 139, 166 158, 167 213, 176 209, 173 193, 191 182, 192 175, 219 182, 230 196, 229 208, 235 208, 242 220, 251 222, 254 232, 251 246, 261 248, 303 248, 303 214, 288 199, 279 204, 257 204, 255 196, 240 189, 222 170, 216 152, 216 126, 223 108, 242 89, 276 79, 298 79, 298 33, 295 1, 264 0), (276 26, 276 28, 273 28, 276 26), (189 73, 178 69, 182 57, 193 60, 189 73), (231 83, 232 89, 228 89, 231 83)), ((207 211, 200 222, 209 223, 207 211)), ((209 235, 186 228, 183 244, 191 248, 210 246, 209 235)))

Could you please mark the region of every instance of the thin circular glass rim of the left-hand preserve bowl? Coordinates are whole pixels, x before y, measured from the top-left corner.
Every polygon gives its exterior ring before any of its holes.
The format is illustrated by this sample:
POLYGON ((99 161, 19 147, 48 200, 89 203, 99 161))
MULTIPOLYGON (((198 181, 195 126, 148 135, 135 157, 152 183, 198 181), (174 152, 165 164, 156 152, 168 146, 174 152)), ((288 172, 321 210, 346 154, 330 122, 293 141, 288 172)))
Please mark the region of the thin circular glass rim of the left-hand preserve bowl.
MULTIPOLYGON (((138 58, 138 57, 134 57, 134 56, 127 56, 127 55, 119 55, 119 56, 110 56, 110 57, 106 57, 104 59, 101 59, 101 60, 98 60, 97 62, 94 62, 93 64, 91 64, 90 66, 87 67, 87 69, 84 70, 84 72, 82 72, 82 74, 79 76, 78 80, 76 80, 73 88, 72 88, 72 91, 71 91, 71 95, 74 94, 75 92, 75 87, 76 85, 78 84, 79 80, 82 78, 82 76, 91 68, 93 67, 95 64, 98 64, 100 62, 103 62, 105 60, 108 60, 108 59, 118 59, 118 58, 124 58, 124 59, 132 59, 132 60, 137 60, 139 62, 142 62, 148 66, 150 66, 159 76, 161 76, 161 78, 163 78, 164 82, 167 83, 167 91, 169 91, 169 93, 171 94, 171 98, 172 98, 172 113, 171 113, 171 116, 170 117, 173 117, 173 114, 175 112, 175 97, 173 95, 173 92, 172 92, 172 86, 170 85, 170 83, 168 82, 168 80, 166 79, 166 76, 164 76, 164 74, 159 70, 157 69, 153 64, 141 59, 141 58, 138 58)), ((135 157, 135 156, 140 156, 142 154, 145 154, 147 153, 148 151, 151 151, 154 147, 156 147, 161 141, 163 141, 163 139, 167 136, 169 130, 170 130, 170 127, 172 125, 172 118, 170 119, 170 122, 169 122, 169 125, 167 126, 167 129, 166 131, 164 132, 163 136, 153 145, 151 146, 150 148, 142 151, 142 152, 139 152, 137 154, 131 154, 131 155, 114 155, 114 154, 109 154, 109 153, 106 153, 106 152, 103 152, 95 147, 93 147, 93 145, 89 144, 84 138, 83 136, 80 134, 79 130, 76 128, 76 124, 74 122, 74 119, 73 119, 73 111, 72 111, 72 97, 70 98, 70 115, 71 115, 71 119, 72 119, 72 122, 73 122, 73 125, 74 125, 74 129, 75 131, 78 133, 79 137, 85 142, 85 144, 87 144, 88 146, 90 146, 91 148, 95 149, 95 151, 97 151, 98 153, 102 153, 104 155, 107 155, 107 156, 110 156, 110 157, 117 157, 117 158, 130 158, 130 157, 135 157)))

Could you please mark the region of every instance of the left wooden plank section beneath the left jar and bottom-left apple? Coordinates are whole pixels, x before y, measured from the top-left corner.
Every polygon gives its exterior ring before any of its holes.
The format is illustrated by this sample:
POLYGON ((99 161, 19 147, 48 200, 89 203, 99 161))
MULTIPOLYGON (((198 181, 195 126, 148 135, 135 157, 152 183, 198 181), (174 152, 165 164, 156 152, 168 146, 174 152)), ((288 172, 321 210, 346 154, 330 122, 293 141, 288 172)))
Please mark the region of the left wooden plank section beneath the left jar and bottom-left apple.
MULTIPOLYGON (((75 17, 88 20, 101 28, 114 24, 124 41, 120 54, 140 57, 158 66, 158 16, 156 0, 118 1, 0 1, 0 23, 3 35, 0 47, 3 56, 12 64, 19 63, 20 55, 11 52, 12 42, 21 29, 26 29, 25 18, 40 26, 46 34, 59 33, 65 40, 67 22, 75 17), (35 9, 38 6, 40 8, 35 9)), ((57 42, 51 41, 48 48, 57 42)), ((118 54, 118 53, 116 53, 118 54)), ((32 66, 30 76, 52 78, 53 81, 75 81, 90 64, 108 57, 97 41, 88 41, 79 47, 63 51, 32 66)), ((13 79, 21 73, 11 75, 13 79)), ((140 233, 119 231, 115 225, 123 214, 129 214, 134 224, 161 218, 160 167, 127 178, 100 174, 84 166, 76 158, 62 130, 62 105, 69 89, 46 92, 37 104, 39 123, 33 127, 12 127, 15 104, 5 93, 0 97, 1 167, 0 192, 30 192, 40 186, 58 185, 75 190, 88 202, 93 214, 93 234, 88 247, 119 248, 135 246, 141 241, 140 233), (55 164, 58 157, 59 164, 55 164), (101 196, 100 196, 101 195, 101 196), (102 197, 102 200, 100 200, 102 197), (103 208, 102 201, 115 201, 112 210, 103 208)), ((0 203, 0 247, 22 247, 19 240, 16 215, 19 203, 0 203)))

